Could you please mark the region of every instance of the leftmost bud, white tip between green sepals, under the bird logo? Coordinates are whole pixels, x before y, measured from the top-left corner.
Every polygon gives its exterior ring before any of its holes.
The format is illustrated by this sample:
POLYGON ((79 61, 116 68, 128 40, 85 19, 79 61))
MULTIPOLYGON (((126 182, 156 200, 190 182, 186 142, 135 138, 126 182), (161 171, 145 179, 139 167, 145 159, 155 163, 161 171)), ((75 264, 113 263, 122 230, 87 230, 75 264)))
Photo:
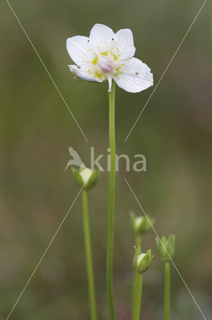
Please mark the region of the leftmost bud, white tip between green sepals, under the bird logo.
POLYGON ((85 190, 92 189, 99 180, 100 170, 91 170, 82 166, 79 168, 78 171, 73 167, 71 167, 71 169, 76 184, 78 185, 78 187, 83 187, 83 189, 85 190))

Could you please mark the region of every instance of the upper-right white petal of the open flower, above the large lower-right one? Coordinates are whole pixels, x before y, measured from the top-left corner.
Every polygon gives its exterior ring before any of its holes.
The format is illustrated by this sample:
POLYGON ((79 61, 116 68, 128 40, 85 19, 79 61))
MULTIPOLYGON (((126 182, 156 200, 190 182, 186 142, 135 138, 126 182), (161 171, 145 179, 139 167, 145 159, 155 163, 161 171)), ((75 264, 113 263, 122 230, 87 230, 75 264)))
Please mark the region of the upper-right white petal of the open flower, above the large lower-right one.
POLYGON ((136 48, 133 43, 133 33, 130 29, 121 29, 116 32, 115 42, 120 60, 126 60, 135 54, 136 48))

